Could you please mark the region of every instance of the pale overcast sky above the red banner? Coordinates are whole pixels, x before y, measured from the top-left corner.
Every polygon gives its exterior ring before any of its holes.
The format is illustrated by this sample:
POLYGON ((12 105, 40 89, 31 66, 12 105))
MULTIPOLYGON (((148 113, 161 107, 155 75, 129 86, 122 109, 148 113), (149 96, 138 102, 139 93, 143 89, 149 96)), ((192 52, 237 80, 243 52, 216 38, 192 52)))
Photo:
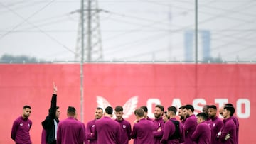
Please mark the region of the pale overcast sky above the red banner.
MULTIPOLYGON (((103 60, 187 60, 185 48, 191 48, 194 59, 194 38, 185 38, 195 27, 193 0, 97 2, 103 11, 97 13, 100 34, 93 38, 102 41, 103 60)), ((0 57, 75 60, 80 45, 80 4, 78 0, 0 0, 0 57)), ((256 60, 255 6, 255 0, 199 0, 198 60, 206 46, 202 31, 210 33, 211 57, 256 60)), ((97 56, 100 47, 92 49, 97 56)))

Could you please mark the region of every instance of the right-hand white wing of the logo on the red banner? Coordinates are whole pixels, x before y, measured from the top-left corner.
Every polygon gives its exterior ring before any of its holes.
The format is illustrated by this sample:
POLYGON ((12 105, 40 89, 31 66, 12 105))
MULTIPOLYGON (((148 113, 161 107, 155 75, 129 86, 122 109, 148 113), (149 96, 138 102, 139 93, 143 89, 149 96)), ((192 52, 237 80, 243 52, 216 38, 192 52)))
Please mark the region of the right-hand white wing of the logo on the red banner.
POLYGON ((129 116, 131 116, 132 113, 134 113, 134 110, 137 107, 137 103, 138 103, 138 96, 133 96, 132 98, 130 98, 123 106, 124 108, 124 115, 123 118, 129 118, 129 116))

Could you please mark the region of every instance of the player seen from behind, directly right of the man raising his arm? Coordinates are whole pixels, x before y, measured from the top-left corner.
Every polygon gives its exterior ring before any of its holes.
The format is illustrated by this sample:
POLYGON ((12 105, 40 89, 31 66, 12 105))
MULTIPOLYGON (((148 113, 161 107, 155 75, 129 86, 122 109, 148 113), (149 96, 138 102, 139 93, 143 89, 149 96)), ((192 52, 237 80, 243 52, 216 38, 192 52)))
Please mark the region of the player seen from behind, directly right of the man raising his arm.
POLYGON ((85 142, 85 128, 76 119, 76 110, 73 106, 68 106, 68 118, 60 121, 57 131, 58 144, 83 144, 85 142))

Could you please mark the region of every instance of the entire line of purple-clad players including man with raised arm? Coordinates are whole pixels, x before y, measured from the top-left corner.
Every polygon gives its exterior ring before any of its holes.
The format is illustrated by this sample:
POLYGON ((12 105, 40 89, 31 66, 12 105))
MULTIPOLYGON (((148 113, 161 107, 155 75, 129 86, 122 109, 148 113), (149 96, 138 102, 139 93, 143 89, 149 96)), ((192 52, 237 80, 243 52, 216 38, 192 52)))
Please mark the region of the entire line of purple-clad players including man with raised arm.
MULTIPOLYGON (((95 118, 85 126, 76 119, 73 106, 68 107, 68 118, 59 121, 60 110, 56 102, 57 87, 53 85, 49 114, 42 122, 41 144, 128 144, 131 139, 134 144, 238 144, 239 122, 233 116, 233 104, 220 107, 222 118, 217 116, 215 105, 203 106, 196 115, 191 104, 178 109, 169 106, 166 111, 164 106, 156 105, 154 119, 147 116, 146 106, 140 106, 134 111, 136 119, 132 125, 124 119, 122 106, 114 109, 107 106, 104 110, 98 107, 95 118)), ((16 143, 32 143, 29 135, 32 126, 32 121, 28 119, 30 113, 31 107, 24 106, 22 116, 14 121, 11 138, 16 143)))

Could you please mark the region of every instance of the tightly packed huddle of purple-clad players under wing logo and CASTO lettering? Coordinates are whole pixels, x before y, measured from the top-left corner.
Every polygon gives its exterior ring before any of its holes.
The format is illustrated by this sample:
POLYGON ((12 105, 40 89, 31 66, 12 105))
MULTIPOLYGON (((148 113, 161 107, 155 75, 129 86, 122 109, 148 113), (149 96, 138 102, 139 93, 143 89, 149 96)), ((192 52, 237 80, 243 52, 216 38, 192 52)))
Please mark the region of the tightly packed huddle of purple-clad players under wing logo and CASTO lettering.
POLYGON ((103 109, 97 108, 95 119, 86 126, 87 140, 97 144, 127 144, 131 139, 134 144, 238 144, 239 122, 233 116, 234 106, 225 104, 219 111, 222 118, 217 116, 215 105, 206 105, 195 116, 193 106, 187 104, 178 109, 178 120, 175 106, 164 111, 164 106, 156 105, 154 119, 151 119, 147 116, 146 106, 141 106, 134 111, 136 120, 131 128, 129 121, 122 117, 122 106, 116 106, 114 110, 108 106, 104 116, 103 109), (113 111, 114 120, 111 118, 113 111))

